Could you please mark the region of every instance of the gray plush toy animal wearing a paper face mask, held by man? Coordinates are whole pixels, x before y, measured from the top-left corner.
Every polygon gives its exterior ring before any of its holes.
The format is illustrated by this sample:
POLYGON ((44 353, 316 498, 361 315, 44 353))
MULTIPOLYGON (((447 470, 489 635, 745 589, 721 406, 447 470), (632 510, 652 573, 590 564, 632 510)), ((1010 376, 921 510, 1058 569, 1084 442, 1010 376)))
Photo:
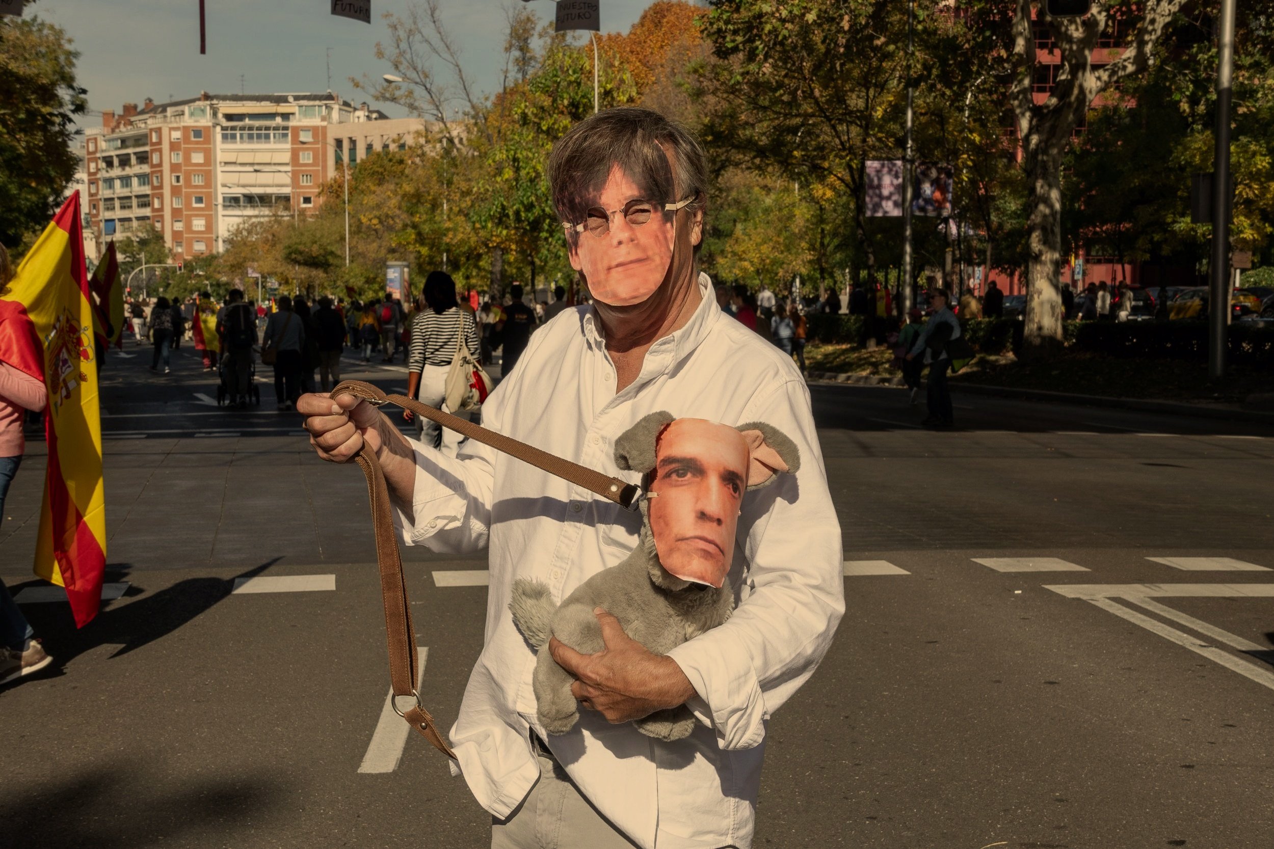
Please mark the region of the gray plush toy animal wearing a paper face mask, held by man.
MULTIPOLYGON (((594 608, 656 654, 716 628, 734 610, 726 573, 745 490, 795 474, 791 439, 762 423, 738 428, 652 412, 615 442, 620 468, 642 472, 646 496, 637 547, 619 565, 580 584, 561 605, 538 580, 513 582, 508 605, 517 630, 539 654, 534 689, 540 724, 564 734, 578 719, 573 678, 547 650, 550 636, 577 652, 605 648, 594 608)), ((680 740, 694 715, 680 705, 634 723, 660 740, 680 740)))

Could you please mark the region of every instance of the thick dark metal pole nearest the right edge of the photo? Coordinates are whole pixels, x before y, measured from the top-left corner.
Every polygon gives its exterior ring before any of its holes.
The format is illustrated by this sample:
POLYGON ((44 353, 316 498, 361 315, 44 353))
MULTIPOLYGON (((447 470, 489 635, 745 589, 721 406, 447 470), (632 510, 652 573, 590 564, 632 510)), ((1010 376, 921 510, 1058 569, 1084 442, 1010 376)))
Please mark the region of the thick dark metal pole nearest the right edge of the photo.
POLYGON ((1229 99, 1235 73, 1235 0, 1222 0, 1217 67, 1217 150, 1212 178, 1212 309, 1208 316, 1208 377, 1226 375, 1229 318, 1229 99))

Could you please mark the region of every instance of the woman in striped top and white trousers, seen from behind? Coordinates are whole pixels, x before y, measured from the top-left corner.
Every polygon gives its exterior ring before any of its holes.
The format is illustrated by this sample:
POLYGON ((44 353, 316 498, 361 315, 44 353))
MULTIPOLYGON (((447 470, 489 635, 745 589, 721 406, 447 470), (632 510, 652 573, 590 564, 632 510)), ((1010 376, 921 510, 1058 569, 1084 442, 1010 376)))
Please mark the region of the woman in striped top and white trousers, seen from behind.
MULTIPOLYGON (((478 326, 471 313, 459 308, 456 300, 456 281, 446 271, 431 271, 424 280, 423 309, 412 319, 412 347, 408 354, 406 393, 431 407, 451 412, 443 403, 447 395, 447 372, 451 359, 456 355, 461 333, 464 344, 478 359, 478 326)), ((412 421, 409 411, 403 417, 412 421)), ((434 448, 440 437, 442 451, 456 456, 462 437, 452 430, 443 430, 433 421, 417 423, 420 442, 434 448)))

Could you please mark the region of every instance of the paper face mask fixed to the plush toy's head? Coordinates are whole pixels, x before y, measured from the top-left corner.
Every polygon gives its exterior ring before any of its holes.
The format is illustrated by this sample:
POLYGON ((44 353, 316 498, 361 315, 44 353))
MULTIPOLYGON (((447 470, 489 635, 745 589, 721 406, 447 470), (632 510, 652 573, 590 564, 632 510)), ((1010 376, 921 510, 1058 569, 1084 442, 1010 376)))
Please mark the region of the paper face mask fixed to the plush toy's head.
POLYGON ((676 419, 659 438, 650 530, 669 574, 720 588, 730 572, 750 447, 735 428, 676 419))

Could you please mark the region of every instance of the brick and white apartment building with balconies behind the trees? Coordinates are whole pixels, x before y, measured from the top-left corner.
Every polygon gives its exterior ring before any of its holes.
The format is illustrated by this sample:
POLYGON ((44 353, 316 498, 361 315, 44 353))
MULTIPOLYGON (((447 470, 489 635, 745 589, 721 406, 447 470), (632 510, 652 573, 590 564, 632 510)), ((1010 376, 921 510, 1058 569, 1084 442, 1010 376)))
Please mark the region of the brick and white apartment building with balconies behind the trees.
POLYGON ((424 127, 322 94, 208 94, 125 103, 85 132, 84 210, 98 244, 155 230, 181 261, 217 253, 252 216, 299 216, 344 163, 424 127))

